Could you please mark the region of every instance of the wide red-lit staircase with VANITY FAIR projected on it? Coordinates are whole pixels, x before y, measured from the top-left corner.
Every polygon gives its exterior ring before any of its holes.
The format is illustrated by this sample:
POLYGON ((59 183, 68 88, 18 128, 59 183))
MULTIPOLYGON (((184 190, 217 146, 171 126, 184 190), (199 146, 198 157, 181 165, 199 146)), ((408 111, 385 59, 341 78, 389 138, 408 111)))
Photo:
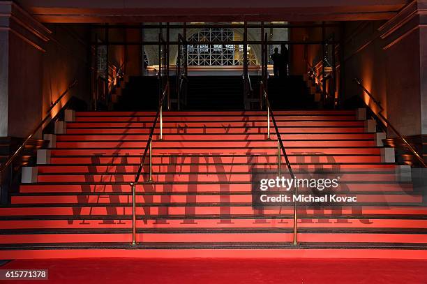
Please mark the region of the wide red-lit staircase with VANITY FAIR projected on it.
POLYGON ((293 204, 252 204, 253 171, 278 171, 265 112, 165 112, 153 182, 146 166, 137 185, 138 245, 130 246, 129 184, 154 115, 77 112, 50 163, 38 165, 38 181, 0 207, 1 258, 427 257, 423 196, 382 163, 354 111, 275 113, 295 174, 339 172, 340 193, 358 200, 299 204, 299 246, 291 244, 293 204))

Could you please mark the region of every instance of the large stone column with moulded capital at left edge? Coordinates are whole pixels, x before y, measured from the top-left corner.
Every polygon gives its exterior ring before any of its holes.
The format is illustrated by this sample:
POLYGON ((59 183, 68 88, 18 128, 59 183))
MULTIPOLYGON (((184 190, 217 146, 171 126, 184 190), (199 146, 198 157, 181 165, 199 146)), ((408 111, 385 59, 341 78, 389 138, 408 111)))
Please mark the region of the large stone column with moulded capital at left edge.
POLYGON ((49 33, 13 1, 0 1, 0 137, 26 137, 41 120, 49 33))

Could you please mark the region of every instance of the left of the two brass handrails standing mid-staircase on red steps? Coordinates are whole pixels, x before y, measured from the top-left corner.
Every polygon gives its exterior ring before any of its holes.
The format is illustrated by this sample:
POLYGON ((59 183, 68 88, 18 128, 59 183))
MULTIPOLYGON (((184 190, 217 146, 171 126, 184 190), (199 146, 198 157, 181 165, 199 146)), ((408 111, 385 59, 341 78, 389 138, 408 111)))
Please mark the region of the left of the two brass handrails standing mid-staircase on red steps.
POLYGON ((144 149, 144 154, 142 155, 140 166, 138 167, 137 173, 135 175, 135 180, 130 183, 130 186, 132 187, 132 245, 136 245, 136 200, 135 200, 135 191, 138 181, 140 180, 141 172, 144 167, 145 158, 147 157, 147 152, 150 150, 150 181, 151 181, 151 142, 153 140, 153 133, 154 129, 156 129, 156 124, 158 117, 160 116, 160 137, 162 136, 162 128, 163 128, 163 102, 165 101, 165 97, 167 94, 167 91, 169 90, 169 82, 166 82, 165 88, 163 89, 163 95, 162 98, 160 98, 160 104, 158 105, 158 109, 156 112, 156 117, 153 121, 153 126, 151 126, 150 135, 147 140, 147 145, 144 149))

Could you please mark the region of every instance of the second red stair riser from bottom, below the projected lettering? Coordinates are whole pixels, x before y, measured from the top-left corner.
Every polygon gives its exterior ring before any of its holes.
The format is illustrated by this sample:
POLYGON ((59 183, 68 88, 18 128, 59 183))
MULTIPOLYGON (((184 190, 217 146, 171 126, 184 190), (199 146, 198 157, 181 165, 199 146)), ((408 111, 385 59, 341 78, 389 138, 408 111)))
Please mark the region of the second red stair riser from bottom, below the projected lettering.
MULTIPOLYGON (((236 230, 237 231, 237 230, 236 230)), ((291 242, 293 235, 290 230, 282 229, 282 232, 147 232, 138 230, 137 241, 174 243, 174 242, 291 242)), ((70 242, 130 242, 132 235, 130 230, 117 233, 87 233, 78 234, 3 234, 0 235, 0 244, 28 244, 28 243, 70 243, 70 242)), ((426 234, 387 234, 387 233, 334 233, 310 232, 299 233, 301 242, 382 242, 382 243, 413 243, 425 244, 426 234)))

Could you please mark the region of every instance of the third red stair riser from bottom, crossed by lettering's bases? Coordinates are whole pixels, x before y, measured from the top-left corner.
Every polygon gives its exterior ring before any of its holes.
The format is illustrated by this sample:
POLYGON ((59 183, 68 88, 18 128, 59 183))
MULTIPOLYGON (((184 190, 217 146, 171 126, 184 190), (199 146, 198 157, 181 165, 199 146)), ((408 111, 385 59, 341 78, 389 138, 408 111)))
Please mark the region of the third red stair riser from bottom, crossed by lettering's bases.
MULTIPOLYGON (((292 228, 292 216, 284 216, 283 218, 231 218, 231 221, 221 221, 220 218, 216 219, 198 219, 198 218, 182 218, 182 219, 164 219, 162 222, 154 220, 137 220, 137 227, 143 228, 194 228, 194 227, 255 227, 255 228, 292 228)), ((23 221, 0 221, 2 229, 37 229, 37 228, 50 228, 50 229, 130 229, 132 228, 132 220, 130 219, 73 219, 68 220, 23 220, 23 221)), ((345 218, 306 218, 299 221, 299 228, 427 228, 427 220, 411 220, 411 219, 345 219, 345 218)))

